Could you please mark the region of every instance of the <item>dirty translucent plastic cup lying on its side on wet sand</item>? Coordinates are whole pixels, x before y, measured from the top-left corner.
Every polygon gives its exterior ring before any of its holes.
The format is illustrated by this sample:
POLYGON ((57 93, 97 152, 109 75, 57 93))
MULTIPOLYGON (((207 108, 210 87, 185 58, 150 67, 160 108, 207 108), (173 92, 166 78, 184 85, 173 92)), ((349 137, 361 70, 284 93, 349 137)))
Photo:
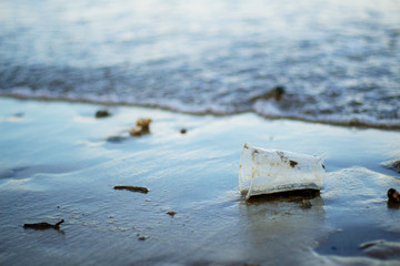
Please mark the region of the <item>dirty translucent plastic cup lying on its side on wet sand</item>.
POLYGON ((240 155, 239 188, 246 200, 279 192, 320 191, 324 172, 321 157, 246 143, 240 155))

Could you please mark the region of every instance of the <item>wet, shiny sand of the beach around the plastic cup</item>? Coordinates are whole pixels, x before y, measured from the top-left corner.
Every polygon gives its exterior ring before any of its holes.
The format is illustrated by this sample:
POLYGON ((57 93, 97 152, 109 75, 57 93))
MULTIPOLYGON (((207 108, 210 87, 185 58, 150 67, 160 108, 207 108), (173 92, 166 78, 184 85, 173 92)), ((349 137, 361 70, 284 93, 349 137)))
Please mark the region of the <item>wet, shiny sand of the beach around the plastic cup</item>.
POLYGON ((400 206, 387 201, 400 174, 384 167, 400 158, 399 131, 134 106, 97 119, 101 105, 7 98, 0 106, 1 265, 400 263, 400 206), (150 134, 130 136, 139 117, 152 119, 150 134), (243 201, 246 142, 323 156, 320 194, 243 201))

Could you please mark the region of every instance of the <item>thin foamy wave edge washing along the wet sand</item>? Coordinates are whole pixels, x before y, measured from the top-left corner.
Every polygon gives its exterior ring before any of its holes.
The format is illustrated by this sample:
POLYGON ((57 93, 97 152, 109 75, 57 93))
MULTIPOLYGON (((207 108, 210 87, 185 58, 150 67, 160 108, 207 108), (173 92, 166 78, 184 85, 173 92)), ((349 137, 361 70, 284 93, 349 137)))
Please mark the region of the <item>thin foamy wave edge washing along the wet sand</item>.
POLYGON ((378 120, 366 114, 317 114, 308 115, 299 111, 282 111, 273 101, 256 102, 253 105, 244 108, 224 106, 218 104, 184 104, 178 100, 154 100, 143 99, 138 101, 120 100, 112 95, 89 95, 77 96, 74 94, 59 95, 44 91, 32 91, 29 88, 14 88, 12 92, 0 91, 0 96, 16 99, 44 100, 44 101, 68 101, 84 102, 104 105, 131 105, 142 108, 162 109, 173 112, 193 114, 193 115, 231 115, 243 112, 253 112, 266 119, 289 119, 313 123, 323 123, 332 125, 356 126, 356 127, 376 127, 384 130, 400 130, 400 120, 378 120))

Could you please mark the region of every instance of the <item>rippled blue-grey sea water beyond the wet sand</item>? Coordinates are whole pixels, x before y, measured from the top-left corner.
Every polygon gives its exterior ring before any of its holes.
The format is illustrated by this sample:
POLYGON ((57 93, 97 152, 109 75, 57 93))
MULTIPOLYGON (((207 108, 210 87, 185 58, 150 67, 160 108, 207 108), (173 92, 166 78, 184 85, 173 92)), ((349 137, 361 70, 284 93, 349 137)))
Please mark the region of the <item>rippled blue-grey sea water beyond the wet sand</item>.
POLYGON ((400 3, 3 0, 0 94, 400 127, 400 3))

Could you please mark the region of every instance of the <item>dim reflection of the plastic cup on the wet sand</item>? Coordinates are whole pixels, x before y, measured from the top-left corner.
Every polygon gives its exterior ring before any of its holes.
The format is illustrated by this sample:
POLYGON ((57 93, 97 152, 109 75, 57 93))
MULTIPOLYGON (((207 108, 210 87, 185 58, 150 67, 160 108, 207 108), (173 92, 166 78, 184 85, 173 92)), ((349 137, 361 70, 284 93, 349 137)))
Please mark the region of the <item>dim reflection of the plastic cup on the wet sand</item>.
POLYGON ((264 263, 299 262, 322 235, 324 203, 319 193, 259 196, 239 204, 244 243, 250 257, 264 263), (261 255, 262 254, 262 255, 261 255), (278 259, 279 262, 274 262, 278 259))

